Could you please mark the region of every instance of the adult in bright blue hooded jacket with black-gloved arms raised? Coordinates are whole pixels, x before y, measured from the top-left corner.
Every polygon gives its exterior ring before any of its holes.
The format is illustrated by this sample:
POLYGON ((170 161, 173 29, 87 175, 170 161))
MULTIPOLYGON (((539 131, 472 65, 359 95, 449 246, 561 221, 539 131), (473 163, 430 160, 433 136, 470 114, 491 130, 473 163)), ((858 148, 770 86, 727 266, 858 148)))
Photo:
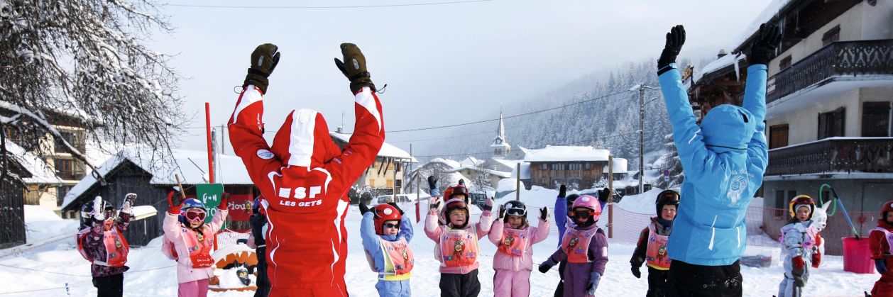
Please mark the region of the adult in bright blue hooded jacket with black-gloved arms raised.
POLYGON ((764 135, 766 64, 780 42, 774 26, 761 26, 748 54, 743 106, 721 104, 697 124, 682 86, 676 56, 685 29, 673 27, 657 61, 663 101, 685 181, 667 250, 672 266, 667 295, 741 296, 739 258, 747 245, 747 205, 763 183, 769 162, 764 135))

